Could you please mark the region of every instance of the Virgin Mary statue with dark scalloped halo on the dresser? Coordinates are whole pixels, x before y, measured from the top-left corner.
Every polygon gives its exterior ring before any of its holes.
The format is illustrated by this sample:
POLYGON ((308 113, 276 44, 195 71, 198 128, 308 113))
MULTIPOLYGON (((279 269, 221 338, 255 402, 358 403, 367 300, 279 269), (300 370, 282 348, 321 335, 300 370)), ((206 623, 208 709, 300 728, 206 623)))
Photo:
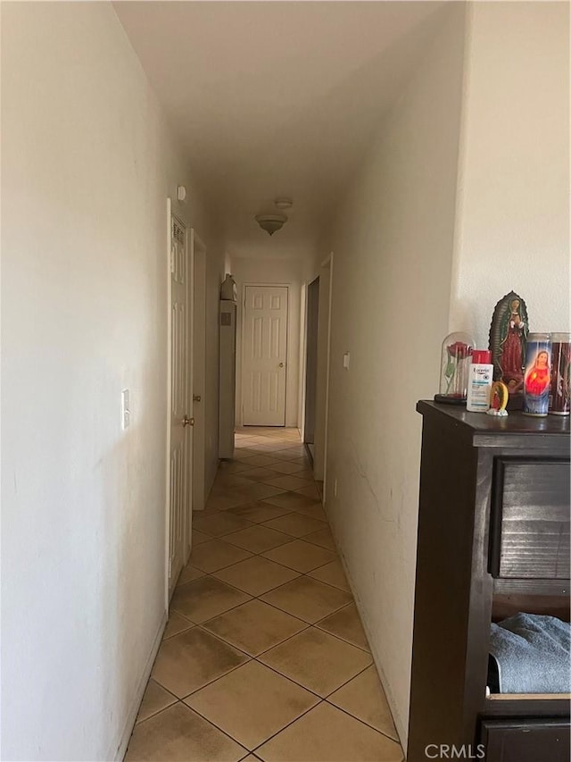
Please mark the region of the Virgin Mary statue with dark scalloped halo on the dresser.
POLYGON ((494 381, 503 381, 509 395, 524 389, 525 345, 529 323, 525 301, 514 291, 495 306, 490 326, 494 381))

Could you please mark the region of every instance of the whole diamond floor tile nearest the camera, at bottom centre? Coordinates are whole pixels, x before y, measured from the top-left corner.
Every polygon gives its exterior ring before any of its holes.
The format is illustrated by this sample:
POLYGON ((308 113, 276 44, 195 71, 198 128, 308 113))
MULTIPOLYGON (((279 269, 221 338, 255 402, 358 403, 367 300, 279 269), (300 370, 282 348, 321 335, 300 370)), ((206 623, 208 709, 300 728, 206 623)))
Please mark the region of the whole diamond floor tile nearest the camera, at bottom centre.
POLYGON ((268 667, 250 662, 186 703, 247 749, 255 749, 318 700, 268 667))

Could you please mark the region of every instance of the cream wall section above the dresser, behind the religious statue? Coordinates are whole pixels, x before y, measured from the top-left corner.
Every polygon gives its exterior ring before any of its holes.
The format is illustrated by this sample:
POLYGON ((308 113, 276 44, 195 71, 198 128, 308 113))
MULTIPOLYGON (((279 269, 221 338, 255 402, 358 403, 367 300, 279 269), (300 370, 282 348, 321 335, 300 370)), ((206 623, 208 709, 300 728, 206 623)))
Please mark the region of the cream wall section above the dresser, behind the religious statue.
POLYGON ((488 346, 496 302, 569 331, 569 5, 470 7, 451 330, 488 346))

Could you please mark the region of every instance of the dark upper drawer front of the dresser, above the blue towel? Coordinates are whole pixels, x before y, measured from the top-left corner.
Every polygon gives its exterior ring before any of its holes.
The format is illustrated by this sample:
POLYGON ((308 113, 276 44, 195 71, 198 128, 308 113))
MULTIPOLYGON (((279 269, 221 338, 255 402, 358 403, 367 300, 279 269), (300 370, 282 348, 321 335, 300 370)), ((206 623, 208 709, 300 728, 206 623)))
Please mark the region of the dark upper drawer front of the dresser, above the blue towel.
POLYGON ((569 578, 569 461, 496 458, 490 565, 500 579, 569 578))

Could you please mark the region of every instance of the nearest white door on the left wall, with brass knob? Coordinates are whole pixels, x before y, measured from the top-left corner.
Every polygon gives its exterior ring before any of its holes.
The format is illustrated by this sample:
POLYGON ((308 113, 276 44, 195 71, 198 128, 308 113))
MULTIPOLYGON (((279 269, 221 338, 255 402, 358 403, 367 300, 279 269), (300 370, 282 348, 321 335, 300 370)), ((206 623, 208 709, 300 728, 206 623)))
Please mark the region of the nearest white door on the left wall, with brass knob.
POLYGON ((170 214, 169 592, 190 551, 192 507, 192 247, 170 214))

